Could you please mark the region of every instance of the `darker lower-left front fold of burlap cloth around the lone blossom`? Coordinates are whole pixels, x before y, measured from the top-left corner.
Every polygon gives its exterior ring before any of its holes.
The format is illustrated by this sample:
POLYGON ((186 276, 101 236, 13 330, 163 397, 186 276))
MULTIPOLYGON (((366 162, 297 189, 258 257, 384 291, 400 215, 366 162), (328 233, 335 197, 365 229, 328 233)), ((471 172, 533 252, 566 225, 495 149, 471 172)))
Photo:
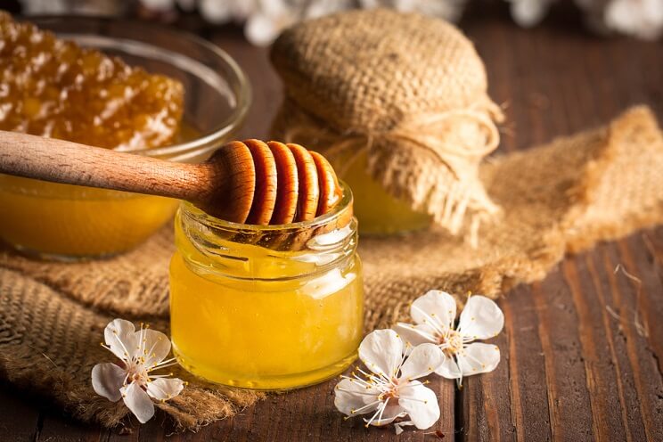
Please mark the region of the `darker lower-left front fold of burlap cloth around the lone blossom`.
MULTIPOLYGON (((99 345, 114 315, 83 307, 12 270, 0 268, 0 282, 0 376, 45 395, 81 421, 109 428, 128 425, 127 407, 96 395, 90 378, 94 364, 116 360, 99 345)), ((151 325, 168 332, 166 321, 151 325)), ((189 385, 179 396, 156 404, 174 430, 197 430, 265 396, 209 384, 179 367, 174 375, 189 385)))

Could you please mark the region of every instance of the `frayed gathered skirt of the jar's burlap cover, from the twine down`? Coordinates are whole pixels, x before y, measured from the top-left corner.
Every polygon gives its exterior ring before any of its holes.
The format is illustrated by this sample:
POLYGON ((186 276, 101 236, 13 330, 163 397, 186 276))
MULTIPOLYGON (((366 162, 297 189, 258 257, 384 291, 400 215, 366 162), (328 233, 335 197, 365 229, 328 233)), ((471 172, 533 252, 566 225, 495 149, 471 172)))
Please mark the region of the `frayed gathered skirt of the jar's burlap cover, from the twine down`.
POLYGON ((348 161, 366 155, 366 173, 393 197, 427 213, 450 233, 471 220, 491 220, 500 208, 479 180, 479 163, 497 148, 500 108, 487 97, 471 109, 456 109, 404 119, 389 132, 338 133, 286 97, 272 123, 274 139, 320 151, 345 178, 348 161), (468 120, 473 136, 460 136, 455 125, 468 120))

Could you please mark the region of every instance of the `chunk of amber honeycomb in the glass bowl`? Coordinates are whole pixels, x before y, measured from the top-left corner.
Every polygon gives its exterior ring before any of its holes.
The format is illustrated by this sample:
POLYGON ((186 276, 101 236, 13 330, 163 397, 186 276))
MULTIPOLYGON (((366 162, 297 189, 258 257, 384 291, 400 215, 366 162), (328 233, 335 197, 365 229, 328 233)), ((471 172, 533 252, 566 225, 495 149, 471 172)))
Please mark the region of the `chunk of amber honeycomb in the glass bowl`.
POLYGON ((0 12, 0 129, 119 151, 173 143, 178 81, 0 12))

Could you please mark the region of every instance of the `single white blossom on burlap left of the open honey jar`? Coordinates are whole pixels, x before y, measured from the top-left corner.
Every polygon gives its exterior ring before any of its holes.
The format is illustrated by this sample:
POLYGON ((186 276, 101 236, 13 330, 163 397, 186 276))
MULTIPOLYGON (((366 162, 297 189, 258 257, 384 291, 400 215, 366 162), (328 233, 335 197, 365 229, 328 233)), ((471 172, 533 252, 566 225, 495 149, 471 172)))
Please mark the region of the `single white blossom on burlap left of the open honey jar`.
POLYGON ((185 382, 167 379, 170 374, 150 374, 154 370, 177 364, 175 358, 166 359, 170 352, 170 340, 160 331, 143 327, 135 331, 133 323, 115 319, 103 331, 106 345, 122 365, 96 364, 92 369, 94 391, 113 402, 124 399, 125 405, 138 421, 145 423, 154 415, 151 397, 165 401, 176 397, 185 382))

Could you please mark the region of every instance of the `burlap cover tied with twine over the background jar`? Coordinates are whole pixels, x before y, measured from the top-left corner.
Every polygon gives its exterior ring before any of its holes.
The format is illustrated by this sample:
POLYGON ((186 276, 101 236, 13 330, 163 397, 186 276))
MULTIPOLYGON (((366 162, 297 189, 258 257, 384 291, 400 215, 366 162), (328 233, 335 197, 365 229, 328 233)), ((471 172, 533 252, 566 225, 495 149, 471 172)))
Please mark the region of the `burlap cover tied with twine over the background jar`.
POLYGON ((483 61, 453 25, 344 12, 286 30, 271 58, 285 89, 274 139, 315 147, 341 177, 365 151, 378 183, 451 233, 466 212, 470 225, 498 213, 479 163, 497 147, 493 120, 503 115, 483 61))

